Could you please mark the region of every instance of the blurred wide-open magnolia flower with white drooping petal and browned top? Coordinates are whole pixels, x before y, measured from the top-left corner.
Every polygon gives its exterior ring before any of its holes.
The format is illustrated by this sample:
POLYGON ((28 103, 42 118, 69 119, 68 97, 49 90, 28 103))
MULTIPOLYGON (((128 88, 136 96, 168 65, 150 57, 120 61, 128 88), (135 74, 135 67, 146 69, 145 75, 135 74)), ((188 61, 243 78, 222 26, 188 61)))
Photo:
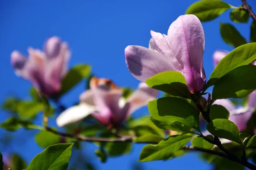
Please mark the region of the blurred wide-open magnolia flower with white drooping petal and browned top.
POLYGON ((158 91, 140 83, 138 89, 125 101, 122 89, 110 79, 90 80, 90 90, 80 95, 80 104, 68 108, 56 119, 59 127, 74 124, 92 115, 102 125, 118 126, 137 109, 157 97, 158 91))

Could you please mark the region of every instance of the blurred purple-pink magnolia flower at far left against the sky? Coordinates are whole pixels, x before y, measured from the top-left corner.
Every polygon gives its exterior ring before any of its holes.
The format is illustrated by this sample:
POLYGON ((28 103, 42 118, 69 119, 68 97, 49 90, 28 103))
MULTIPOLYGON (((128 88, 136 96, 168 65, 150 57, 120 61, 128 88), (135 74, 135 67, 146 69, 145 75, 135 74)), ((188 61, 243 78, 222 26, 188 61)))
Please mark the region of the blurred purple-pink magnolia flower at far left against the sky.
POLYGON ((11 63, 17 76, 29 80, 46 96, 58 93, 70 58, 67 43, 61 42, 58 37, 50 37, 44 44, 44 52, 29 47, 28 53, 28 58, 16 50, 11 54, 11 63))

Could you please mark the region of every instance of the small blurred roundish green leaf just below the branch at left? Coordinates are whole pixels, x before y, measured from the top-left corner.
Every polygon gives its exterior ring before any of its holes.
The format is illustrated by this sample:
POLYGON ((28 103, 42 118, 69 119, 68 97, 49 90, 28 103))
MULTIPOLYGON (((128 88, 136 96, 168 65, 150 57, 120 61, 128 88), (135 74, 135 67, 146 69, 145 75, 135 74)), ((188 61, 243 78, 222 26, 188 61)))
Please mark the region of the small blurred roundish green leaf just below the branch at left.
POLYGON ((41 147, 48 147, 61 142, 61 136, 54 133, 41 130, 35 135, 35 142, 41 147))

